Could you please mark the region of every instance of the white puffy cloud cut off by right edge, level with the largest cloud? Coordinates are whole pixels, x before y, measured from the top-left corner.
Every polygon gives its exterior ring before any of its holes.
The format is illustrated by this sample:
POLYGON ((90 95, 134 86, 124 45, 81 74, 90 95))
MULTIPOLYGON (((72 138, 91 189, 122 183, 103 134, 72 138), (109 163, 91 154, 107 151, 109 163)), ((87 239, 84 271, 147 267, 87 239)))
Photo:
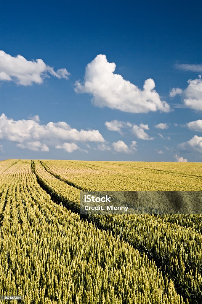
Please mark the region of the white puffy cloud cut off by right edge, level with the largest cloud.
POLYGON ((189 79, 183 92, 183 102, 187 108, 202 111, 202 80, 189 79))

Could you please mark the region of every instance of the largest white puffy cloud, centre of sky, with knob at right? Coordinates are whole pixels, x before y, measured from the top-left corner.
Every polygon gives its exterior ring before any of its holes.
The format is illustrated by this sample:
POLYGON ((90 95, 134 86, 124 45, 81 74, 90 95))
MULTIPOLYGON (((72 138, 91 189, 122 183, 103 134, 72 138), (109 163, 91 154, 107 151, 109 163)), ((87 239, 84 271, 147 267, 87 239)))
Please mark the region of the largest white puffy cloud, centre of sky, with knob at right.
POLYGON ((155 83, 149 78, 144 82, 143 90, 114 74, 116 64, 109 63, 106 55, 97 55, 86 66, 84 83, 76 81, 76 93, 93 95, 92 102, 98 107, 109 107, 123 112, 147 113, 160 110, 170 112, 170 106, 161 101, 154 90, 155 83))

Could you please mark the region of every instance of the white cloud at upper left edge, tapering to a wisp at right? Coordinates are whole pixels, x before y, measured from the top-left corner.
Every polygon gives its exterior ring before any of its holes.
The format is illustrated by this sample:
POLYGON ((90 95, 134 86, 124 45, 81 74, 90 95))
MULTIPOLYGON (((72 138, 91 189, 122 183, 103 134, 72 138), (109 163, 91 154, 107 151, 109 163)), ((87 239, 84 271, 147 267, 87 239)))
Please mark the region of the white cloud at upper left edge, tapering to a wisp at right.
POLYGON ((42 59, 28 61, 21 55, 12 57, 0 51, 0 81, 14 81, 19 85, 41 84, 45 77, 49 77, 47 73, 59 79, 67 79, 69 75, 66 68, 55 72, 42 59))

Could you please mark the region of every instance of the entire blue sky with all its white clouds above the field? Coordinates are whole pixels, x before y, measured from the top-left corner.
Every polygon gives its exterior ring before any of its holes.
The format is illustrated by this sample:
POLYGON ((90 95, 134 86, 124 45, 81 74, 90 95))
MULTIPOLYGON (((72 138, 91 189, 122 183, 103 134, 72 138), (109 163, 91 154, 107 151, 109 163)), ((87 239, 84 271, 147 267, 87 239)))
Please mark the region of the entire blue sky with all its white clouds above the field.
POLYGON ((160 1, 2 4, 0 159, 200 162, 200 12, 160 1))

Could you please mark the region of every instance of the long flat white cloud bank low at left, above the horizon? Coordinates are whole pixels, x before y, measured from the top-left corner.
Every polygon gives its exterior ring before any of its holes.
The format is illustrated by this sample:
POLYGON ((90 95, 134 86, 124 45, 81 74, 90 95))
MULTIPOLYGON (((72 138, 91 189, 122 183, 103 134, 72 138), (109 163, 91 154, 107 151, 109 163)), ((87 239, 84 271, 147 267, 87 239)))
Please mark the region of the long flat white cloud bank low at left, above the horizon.
POLYGON ((67 142, 105 142, 98 130, 78 131, 65 122, 41 125, 33 119, 15 121, 5 114, 0 116, 0 139, 15 142, 21 149, 34 151, 48 151, 50 146, 62 146, 67 142))

